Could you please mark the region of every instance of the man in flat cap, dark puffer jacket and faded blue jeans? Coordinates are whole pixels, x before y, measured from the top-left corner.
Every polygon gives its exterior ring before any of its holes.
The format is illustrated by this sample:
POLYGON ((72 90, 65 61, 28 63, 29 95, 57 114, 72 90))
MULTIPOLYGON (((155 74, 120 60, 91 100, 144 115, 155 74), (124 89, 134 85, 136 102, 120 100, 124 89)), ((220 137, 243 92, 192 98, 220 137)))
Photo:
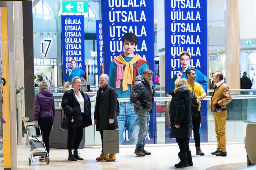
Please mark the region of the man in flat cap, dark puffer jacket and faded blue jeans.
POLYGON ((151 81, 153 75, 154 73, 151 70, 145 69, 143 71, 143 76, 136 77, 135 84, 130 94, 130 101, 134 104, 134 111, 138 116, 140 127, 138 141, 134 151, 134 154, 138 156, 151 155, 151 153, 146 151, 144 147, 145 138, 148 134, 150 120, 149 113, 152 113, 155 94, 154 84, 151 81))

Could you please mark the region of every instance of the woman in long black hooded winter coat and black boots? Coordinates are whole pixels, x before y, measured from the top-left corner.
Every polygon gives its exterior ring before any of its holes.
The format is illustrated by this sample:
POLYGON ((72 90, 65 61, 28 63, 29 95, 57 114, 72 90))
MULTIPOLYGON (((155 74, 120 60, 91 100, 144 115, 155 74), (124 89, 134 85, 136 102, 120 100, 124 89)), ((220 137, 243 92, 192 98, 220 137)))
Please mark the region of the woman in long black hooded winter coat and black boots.
POLYGON ((192 116, 190 88, 186 79, 177 79, 170 103, 171 138, 176 137, 179 145, 180 162, 175 167, 193 166, 187 138, 191 136, 192 116))

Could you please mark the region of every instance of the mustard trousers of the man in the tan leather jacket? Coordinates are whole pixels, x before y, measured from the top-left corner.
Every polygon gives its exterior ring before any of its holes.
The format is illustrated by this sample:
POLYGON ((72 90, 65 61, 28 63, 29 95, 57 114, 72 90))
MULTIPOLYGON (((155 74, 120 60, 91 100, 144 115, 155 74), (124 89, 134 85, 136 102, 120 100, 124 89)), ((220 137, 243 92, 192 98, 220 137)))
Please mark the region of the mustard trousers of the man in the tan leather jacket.
POLYGON ((226 139, 226 119, 228 117, 227 110, 220 113, 214 112, 215 133, 217 137, 217 151, 226 151, 227 139, 226 139))

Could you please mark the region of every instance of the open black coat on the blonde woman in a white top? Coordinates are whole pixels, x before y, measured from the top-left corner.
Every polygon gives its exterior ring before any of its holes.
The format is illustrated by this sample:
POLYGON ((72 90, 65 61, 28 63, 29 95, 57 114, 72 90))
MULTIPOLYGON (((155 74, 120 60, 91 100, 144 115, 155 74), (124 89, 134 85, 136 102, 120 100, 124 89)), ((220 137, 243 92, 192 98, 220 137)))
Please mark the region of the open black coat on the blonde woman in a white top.
POLYGON ((69 117, 70 125, 69 128, 74 128, 78 126, 88 127, 92 125, 92 113, 91 104, 89 96, 80 91, 84 98, 84 113, 82 114, 80 104, 75 97, 73 89, 66 91, 63 94, 61 107, 65 112, 66 117, 69 117), (73 118, 74 122, 71 122, 73 118))

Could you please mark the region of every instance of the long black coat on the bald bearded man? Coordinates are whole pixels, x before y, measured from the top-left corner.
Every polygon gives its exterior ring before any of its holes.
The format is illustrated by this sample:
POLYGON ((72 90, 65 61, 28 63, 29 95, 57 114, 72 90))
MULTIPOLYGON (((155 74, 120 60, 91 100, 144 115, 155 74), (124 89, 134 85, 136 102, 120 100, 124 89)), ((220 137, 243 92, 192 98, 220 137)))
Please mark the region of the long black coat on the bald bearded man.
POLYGON ((101 94, 101 88, 97 91, 94 120, 96 119, 96 131, 115 130, 118 128, 116 113, 119 113, 119 103, 115 88, 107 85, 101 94), (100 104, 98 102, 100 100, 100 104), (109 123, 113 119, 114 123, 109 123))

